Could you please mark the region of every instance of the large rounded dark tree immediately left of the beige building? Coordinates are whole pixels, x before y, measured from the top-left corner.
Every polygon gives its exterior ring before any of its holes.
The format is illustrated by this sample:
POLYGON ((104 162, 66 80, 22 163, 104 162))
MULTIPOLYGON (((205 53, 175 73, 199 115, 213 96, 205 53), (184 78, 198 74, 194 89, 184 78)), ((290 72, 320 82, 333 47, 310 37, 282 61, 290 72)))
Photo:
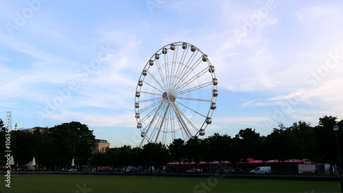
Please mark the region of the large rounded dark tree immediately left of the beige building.
POLYGON ((56 144, 56 157, 60 166, 68 167, 71 159, 76 165, 87 164, 95 149, 93 130, 80 122, 62 123, 50 128, 51 138, 56 144))

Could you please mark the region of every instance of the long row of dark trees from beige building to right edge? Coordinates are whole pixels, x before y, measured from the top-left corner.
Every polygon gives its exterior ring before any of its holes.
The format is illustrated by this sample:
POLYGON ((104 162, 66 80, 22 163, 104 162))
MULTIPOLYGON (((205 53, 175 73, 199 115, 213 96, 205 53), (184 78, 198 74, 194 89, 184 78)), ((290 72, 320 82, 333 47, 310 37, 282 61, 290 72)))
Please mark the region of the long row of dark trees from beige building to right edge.
MULTIPOLYGON (((92 166, 157 166, 168 162, 213 162, 229 161, 231 163, 246 162, 248 158, 279 159, 311 159, 316 163, 338 164, 335 142, 335 125, 337 117, 323 116, 318 125, 298 121, 290 127, 279 124, 268 136, 260 136, 252 128, 241 129, 234 137, 215 133, 201 139, 191 138, 187 142, 176 139, 168 146, 148 143, 142 148, 123 146, 121 149, 107 149, 105 153, 95 153, 91 158, 92 166)), ((343 129, 343 120, 338 122, 343 129)), ((343 131, 339 131, 339 139, 343 139, 343 131)), ((343 141, 340 143, 340 155, 343 141)), ((342 159, 341 159, 342 160, 342 159)), ((331 170, 331 175, 332 175, 331 170)))

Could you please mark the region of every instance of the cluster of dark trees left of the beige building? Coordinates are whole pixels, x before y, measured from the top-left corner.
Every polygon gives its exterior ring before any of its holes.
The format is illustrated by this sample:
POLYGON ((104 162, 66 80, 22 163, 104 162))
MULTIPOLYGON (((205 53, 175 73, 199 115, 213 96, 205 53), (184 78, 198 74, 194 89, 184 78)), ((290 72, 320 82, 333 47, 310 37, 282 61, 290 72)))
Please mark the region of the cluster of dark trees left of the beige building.
MULTIPOLYGON (((0 129, 0 151, 3 155, 5 128, 1 119, 0 129)), ((85 165, 95 148, 93 131, 87 125, 75 121, 51 127, 49 132, 37 129, 33 133, 19 130, 11 131, 10 134, 11 155, 19 166, 29 163, 33 157, 39 167, 43 164, 43 167, 51 169, 67 168, 71 166, 72 159, 75 159, 75 165, 85 165)))

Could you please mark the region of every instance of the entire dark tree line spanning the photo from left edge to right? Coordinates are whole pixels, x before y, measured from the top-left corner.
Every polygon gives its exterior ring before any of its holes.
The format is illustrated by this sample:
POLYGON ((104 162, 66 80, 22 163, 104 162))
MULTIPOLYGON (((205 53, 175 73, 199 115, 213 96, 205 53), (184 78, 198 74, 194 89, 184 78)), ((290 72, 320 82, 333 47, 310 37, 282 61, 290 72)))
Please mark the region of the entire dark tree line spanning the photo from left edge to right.
MULTIPOLYGON (((49 129, 49 133, 24 133, 12 131, 11 148, 14 160, 27 164, 33 157, 47 167, 67 167, 75 159, 76 165, 113 166, 156 166, 168 162, 248 162, 248 158, 261 159, 311 159, 316 163, 337 164, 338 155, 333 125, 335 116, 319 118, 318 125, 298 121, 290 127, 279 123, 268 136, 261 136, 255 129, 241 129, 235 136, 215 133, 207 138, 194 137, 187 142, 176 139, 171 144, 148 143, 139 147, 124 145, 119 149, 107 149, 105 153, 94 153, 93 131, 79 122, 62 123, 49 129)), ((0 138, 5 138, 0 119, 0 138)), ((338 122, 343 129, 343 120, 338 122)), ((338 131, 343 139, 343 131, 338 131)), ((5 152, 1 140, 1 153, 5 152)), ((340 142, 340 155, 343 155, 340 142)), ((342 160, 342 159, 341 159, 342 160)), ((331 170, 332 174, 332 170, 331 170)))

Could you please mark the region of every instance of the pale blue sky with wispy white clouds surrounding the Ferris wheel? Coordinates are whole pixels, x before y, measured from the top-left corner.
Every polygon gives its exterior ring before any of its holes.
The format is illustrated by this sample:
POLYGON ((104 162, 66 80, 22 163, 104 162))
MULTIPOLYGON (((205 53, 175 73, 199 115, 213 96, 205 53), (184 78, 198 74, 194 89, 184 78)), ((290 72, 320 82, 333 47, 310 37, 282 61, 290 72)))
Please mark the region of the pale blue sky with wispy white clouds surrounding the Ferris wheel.
POLYGON ((24 128, 80 121, 111 147, 137 146, 141 71, 184 41, 219 81, 206 136, 340 120, 342 18, 342 1, 0 1, 0 117, 24 128))

